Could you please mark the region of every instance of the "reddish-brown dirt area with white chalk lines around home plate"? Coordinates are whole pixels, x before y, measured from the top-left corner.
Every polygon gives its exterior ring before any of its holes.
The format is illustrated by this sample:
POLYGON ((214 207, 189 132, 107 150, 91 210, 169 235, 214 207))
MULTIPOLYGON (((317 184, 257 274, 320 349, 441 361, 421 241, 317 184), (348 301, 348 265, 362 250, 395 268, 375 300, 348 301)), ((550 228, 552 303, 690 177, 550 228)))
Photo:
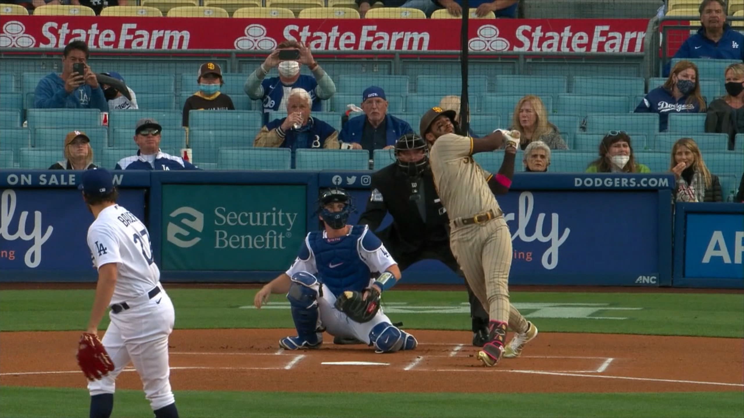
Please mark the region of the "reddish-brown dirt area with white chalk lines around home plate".
MULTIPOLYGON (((520 358, 481 367, 470 332, 412 331, 415 351, 363 345, 284 351, 290 329, 179 329, 175 390, 327 392, 666 392, 744 389, 744 339, 541 333, 520 358), (303 382, 292 385, 292 382, 303 382), (308 385, 308 382, 313 382, 308 385)), ((80 332, 0 332, 0 385, 85 388, 80 332)), ((140 389, 125 369, 118 388, 140 389)))

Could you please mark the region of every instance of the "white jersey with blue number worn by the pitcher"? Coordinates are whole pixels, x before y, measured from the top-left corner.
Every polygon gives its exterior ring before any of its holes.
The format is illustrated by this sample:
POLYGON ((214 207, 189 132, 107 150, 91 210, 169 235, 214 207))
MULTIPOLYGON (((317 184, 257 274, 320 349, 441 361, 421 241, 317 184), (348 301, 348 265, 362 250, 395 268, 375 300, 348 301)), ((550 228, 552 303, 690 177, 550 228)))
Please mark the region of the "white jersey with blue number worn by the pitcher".
POLYGON ((117 280, 111 303, 121 303, 150 292, 160 281, 153 261, 150 234, 129 210, 112 205, 103 209, 88 228, 93 266, 117 263, 117 280))

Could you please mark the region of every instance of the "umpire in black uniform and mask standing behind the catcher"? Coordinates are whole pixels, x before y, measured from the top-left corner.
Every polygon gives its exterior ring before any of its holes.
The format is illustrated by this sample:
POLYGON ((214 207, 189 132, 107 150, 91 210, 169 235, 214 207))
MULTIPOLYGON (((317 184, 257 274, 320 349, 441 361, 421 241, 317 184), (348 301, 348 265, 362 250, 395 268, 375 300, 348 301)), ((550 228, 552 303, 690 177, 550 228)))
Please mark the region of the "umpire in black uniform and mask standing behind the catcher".
MULTIPOLYGON (((440 260, 463 277, 449 249, 449 217, 434 187, 429 168, 429 147, 419 135, 403 135, 395 143, 395 164, 372 175, 372 193, 359 225, 375 231, 385 218, 392 224, 375 233, 388 248, 400 270, 420 260, 440 260)), ((465 282, 467 286, 467 282, 465 282)), ((472 318, 472 344, 483 347, 488 341, 488 313, 467 287, 472 318)))

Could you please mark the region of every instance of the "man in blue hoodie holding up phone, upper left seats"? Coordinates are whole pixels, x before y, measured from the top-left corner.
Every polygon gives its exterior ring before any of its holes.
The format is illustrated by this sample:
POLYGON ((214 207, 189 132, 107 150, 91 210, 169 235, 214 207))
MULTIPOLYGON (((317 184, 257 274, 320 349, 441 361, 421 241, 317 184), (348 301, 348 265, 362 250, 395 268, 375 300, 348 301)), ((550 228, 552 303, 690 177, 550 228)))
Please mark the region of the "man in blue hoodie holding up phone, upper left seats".
POLYGON ((62 52, 62 74, 50 73, 39 80, 33 93, 36 109, 99 109, 108 112, 109 105, 95 74, 88 66, 90 53, 83 41, 72 41, 62 52), (83 65, 83 75, 73 71, 74 64, 83 65))

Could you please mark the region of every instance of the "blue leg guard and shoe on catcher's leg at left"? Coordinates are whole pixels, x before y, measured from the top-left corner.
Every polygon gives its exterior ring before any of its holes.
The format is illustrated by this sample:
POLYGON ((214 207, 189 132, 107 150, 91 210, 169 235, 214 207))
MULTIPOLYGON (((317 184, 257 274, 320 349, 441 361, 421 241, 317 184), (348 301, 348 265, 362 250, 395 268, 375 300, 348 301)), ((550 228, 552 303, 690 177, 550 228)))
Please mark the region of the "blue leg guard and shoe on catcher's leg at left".
POLYGON ((301 348, 318 348, 323 343, 323 335, 318 332, 318 279, 306 271, 295 273, 289 280, 289 292, 286 294, 292 309, 292 320, 295 321, 297 337, 286 337, 279 345, 286 350, 301 348))

